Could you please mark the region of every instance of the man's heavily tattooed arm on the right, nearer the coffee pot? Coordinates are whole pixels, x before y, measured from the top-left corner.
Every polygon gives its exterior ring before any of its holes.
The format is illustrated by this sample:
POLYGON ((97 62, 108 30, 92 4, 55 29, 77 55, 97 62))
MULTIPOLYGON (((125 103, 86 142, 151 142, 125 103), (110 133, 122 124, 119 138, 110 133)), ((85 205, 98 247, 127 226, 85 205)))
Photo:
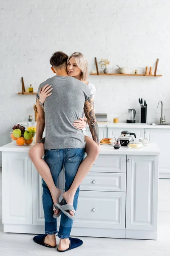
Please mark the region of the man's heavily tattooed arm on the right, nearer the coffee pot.
POLYGON ((88 125, 91 131, 92 138, 97 145, 100 145, 99 141, 99 128, 94 113, 94 99, 90 98, 85 102, 84 105, 85 116, 88 119, 88 125))

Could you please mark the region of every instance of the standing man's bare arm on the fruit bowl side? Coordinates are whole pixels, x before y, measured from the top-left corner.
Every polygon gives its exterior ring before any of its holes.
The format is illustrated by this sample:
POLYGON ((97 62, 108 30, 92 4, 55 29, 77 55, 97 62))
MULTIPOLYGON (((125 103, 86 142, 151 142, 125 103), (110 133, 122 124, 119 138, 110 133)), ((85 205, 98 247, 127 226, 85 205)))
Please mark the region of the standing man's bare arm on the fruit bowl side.
POLYGON ((37 102, 37 112, 38 112, 37 128, 36 128, 36 143, 37 143, 39 140, 42 139, 42 134, 45 128, 45 115, 39 103, 39 100, 37 98, 36 98, 36 102, 37 102))

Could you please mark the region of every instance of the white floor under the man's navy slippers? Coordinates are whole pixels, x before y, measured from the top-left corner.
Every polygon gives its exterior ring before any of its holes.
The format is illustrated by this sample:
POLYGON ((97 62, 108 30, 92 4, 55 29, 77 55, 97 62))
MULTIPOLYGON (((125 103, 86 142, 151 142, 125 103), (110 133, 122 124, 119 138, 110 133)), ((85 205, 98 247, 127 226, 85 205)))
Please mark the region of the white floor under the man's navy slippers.
MULTIPOLYGON (((0 170, 0 256, 54 256, 56 249, 35 244, 33 235, 3 233, 0 170)), ((83 245, 65 256, 170 256, 170 180, 159 180, 158 240, 80 238, 83 245)))

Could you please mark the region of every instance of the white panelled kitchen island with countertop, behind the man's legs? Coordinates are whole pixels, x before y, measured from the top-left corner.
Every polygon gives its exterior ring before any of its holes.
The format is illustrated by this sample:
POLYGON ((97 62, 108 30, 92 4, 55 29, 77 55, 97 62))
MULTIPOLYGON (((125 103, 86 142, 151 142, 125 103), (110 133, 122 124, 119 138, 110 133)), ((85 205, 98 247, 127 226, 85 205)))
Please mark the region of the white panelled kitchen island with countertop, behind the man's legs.
MULTIPOLYGON (((9 143, 0 147, 3 230, 7 233, 44 233, 42 178, 28 157, 32 146, 9 143)), ((62 191, 63 171, 58 178, 62 191)), ((80 186, 71 236, 157 239, 158 175, 155 143, 118 150, 101 145, 99 157, 80 186), (101 205, 107 209, 105 214, 101 205)))

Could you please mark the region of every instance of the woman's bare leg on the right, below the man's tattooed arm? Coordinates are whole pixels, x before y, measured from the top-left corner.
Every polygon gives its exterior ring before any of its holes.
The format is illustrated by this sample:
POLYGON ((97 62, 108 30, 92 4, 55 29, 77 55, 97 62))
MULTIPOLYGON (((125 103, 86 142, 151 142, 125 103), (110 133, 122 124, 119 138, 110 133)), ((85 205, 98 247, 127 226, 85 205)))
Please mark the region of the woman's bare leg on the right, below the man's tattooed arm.
MULTIPOLYGON (((82 163, 79 166, 79 169, 77 170, 77 174, 74 178, 74 181, 71 185, 71 188, 68 189, 67 192, 64 192, 63 198, 67 202, 67 204, 73 205, 74 201, 74 195, 79 187, 79 185, 84 180, 85 176, 90 171, 91 167, 94 164, 94 161, 99 155, 99 145, 97 145, 94 140, 92 140, 90 137, 85 136, 86 146, 85 146, 85 152, 87 153, 87 157, 82 161, 82 163)), ((74 215, 72 211, 70 211, 71 215, 74 215)))

